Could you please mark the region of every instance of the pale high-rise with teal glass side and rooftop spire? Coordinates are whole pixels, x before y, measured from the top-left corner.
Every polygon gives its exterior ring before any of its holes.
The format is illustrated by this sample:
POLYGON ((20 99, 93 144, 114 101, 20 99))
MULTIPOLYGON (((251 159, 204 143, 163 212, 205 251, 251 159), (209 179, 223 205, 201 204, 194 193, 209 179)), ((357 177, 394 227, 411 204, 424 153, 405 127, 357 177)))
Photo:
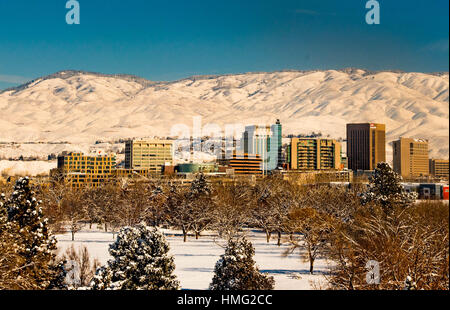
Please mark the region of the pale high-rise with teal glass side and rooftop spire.
POLYGON ((245 154, 259 155, 264 172, 275 170, 283 164, 282 127, 280 120, 272 126, 246 126, 242 134, 241 150, 245 154))

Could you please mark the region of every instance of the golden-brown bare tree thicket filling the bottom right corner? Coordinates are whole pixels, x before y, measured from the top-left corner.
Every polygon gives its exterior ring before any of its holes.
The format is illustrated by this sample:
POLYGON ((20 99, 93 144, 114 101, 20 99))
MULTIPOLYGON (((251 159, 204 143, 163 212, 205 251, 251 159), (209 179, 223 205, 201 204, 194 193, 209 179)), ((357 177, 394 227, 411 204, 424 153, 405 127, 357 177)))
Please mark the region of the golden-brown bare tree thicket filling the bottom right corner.
MULTIPOLYGON (((392 205, 391 205, 392 206, 392 205)), ((441 203, 361 209, 330 247, 337 265, 334 289, 403 289, 407 278, 417 289, 448 289, 449 213, 441 203), (380 283, 367 284, 365 265, 380 265, 380 283)))

